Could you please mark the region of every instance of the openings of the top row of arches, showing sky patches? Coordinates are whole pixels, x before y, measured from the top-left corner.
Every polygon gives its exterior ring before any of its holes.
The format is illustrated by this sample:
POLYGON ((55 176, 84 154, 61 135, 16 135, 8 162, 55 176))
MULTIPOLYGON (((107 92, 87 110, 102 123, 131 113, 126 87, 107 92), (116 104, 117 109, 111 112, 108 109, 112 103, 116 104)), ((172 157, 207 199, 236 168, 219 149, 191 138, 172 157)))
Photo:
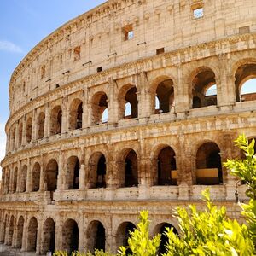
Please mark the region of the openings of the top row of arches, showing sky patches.
MULTIPOLYGON (((243 64, 236 70, 235 87, 236 102, 251 101, 256 99, 255 81, 256 64, 243 64)), ((202 108, 218 105, 218 83, 216 75, 210 67, 199 67, 193 72, 193 79, 189 91, 190 108, 202 108)), ((148 90, 148 102, 150 102, 149 114, 175 112, 175 98, 177 97, 177 85, 171 76, 160 76, 152 82, 148 90)), ((144 93, 144 92, 143 92, 144 93)), ((138 118, 138 89, 137 84, 125 84, 118 92, 118 120, 138 118)), ((85 106, 84 100, 74 98, 67 107, 67 131, 73 131, 84 127, 84 108, 89 108, 86 121, 87 125, 99 125, 108 123, 109 109, 108 92, 99 91, 91 96, 89 105, 85 106)), ((142 108, 143 109, 143 108, 142 108)), ((188 109, 184 109, 188 110, 188 109)), ((27 116, 23 121, 13 125, 9 132, 10 149, 20 148, 23 143, 31 143, 32 138, 42 139, 45 136, 53 136, 63 132, 63 108, 56 104, 49 111, 49 116, 41 110, 37 117, 27 116), (46 119, 49 119, 46 121, 46 119), (46 127, 46 124, 49 127, 46 127), (47 132, 46 132, 47 130, 47 132), (49 130, 49 131, 48 131, 49 130), (34 137, 32 136, 35 133, 34 137), (46 134, 47 133, 47 134, 46 134)), ((65 112, 66 114, 66 112, 65 112)), ((66 132, 66 131, 65 131, 66 132)))

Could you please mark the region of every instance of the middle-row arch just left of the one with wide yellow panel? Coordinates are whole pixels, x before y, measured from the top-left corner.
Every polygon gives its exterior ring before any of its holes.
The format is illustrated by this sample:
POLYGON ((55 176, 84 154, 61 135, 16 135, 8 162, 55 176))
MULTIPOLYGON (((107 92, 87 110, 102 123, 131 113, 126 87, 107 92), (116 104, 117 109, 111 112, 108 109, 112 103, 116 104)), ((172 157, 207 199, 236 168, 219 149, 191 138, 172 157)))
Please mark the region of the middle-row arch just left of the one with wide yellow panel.
POLYGON ((167 144, 157 146, 152 163, 154 184, 177 185, 176 154, 172 147, 167 144))

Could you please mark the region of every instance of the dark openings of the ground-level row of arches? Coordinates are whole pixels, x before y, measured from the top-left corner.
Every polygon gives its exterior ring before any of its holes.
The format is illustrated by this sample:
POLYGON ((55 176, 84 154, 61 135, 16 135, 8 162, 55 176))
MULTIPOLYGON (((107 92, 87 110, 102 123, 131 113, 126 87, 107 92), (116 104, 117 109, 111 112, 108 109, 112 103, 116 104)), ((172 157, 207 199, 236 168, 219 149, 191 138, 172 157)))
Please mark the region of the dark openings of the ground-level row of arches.
MULTIPOLYGON (((73 218, 67 218, 61 224, 60 229, 56 229, 54 218, 47 218, 41 229, 38 226, 38 219, 35 217, 29 218, 26 223, 23 216, 16 220, 14 215, 11 215, 10 218, 8 215, 5 215, 1 224, 3 227, 1 242, 8 246, 22 249, 26 252, 37 252, 40 255, 45 255, 49 251, 53 253, 56 249, 56 233, 60 232, 61 245, 59 245, 58 250, 61 249, 68 254, 79 250, 79 236, 81 236, 82 232, 79 230, 78 222, 73 218), (42 230, 42 233, 38 234, 40 230, 42 230)), ((174 232, 178 234, 172 224, 165 222, 157 224, 152 231, 152 236, 156 234, 161 234, 162 236, 159 248, 160 253, 166 253, 165 245, 167 240, 164 232, 167 227, 172 227, 174 232)), ((131 237, 130 232, 135 229, 135 224, 125 221, 118 225, 115 233, 113 233, 113 237, 108 237, 109 235, 104 224, 99 220, 93 220, 87 225, 85 231, 85 248, 90 252, 94 252, 96 249, 105 251, 107 250, 107 239, 115 239, 115 248, 113 249, 117 250, 120 246, 128 245, 128 239, 131 237)))

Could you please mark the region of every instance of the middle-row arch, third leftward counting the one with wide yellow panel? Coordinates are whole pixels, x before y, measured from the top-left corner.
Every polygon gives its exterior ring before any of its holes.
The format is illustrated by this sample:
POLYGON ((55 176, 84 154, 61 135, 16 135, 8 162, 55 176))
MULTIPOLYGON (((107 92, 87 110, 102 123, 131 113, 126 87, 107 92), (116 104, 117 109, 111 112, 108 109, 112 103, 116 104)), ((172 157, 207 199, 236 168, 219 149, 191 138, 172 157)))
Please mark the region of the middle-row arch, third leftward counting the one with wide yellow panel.
POLYGON ((119 187, 137 187, 138 163, 137 153, 132 148, 125 148, 118 156, 119 187))

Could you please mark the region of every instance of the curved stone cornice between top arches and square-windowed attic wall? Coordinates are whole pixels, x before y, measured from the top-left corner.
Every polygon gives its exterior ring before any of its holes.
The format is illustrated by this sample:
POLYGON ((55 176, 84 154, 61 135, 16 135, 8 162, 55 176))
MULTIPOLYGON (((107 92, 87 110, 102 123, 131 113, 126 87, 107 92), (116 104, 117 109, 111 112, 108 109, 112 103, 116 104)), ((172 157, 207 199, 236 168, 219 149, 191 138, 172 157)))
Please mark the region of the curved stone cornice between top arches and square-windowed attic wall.
MULTIPOLYGON (((219 39, 217 41, 212 41, 209 43, 197 44, 197 45, 186 47, 183 49, 176 49, 171 52, 166 52, 165 54, 162 54, 162 55, 153 55, 153 56, 150 56, 150 57, 147 57, 144 59, 140 59, 137 61, 128 62, 128 63, 122 64, 120 66, 117 66, 117 67, 112 67, 112 68, 106 69, 106 70, 102 71, 102 73, 95 73, 95 74, 91 74, 91 75, 86 76, 81 79, 73 80, 72 82, 70 82, 68 84, 62 85, 61 87, 59 87, 55 90, 50 90, 49 92, 45 93, 44 95, 38 96, 31 102, 26 103, 26 105, 24 105, 22 108, 20 108, 18 111, 16 111, 15 113, 12 114, 12 116, 7 121, 5 131, 8 131, 9 125, 11 123, 13 123, 13 120, 20 118, 21 113, 27 113, 33 109, 32 107, 35 107, 35 106, 39 107, 39 106, 43 105, 44 99, 46 97, 50 98, 51 96, 55 96, 56 93, 61 94, 61 92, 67 91, 68 89, 71 89, 74 87, 76 88, 76 90, 82 90, 83 84, 108 83, 109 76, 113 76, 114 73, 119 73, 119 75, 117 77, 124 78, 125 76, 122 76, 122 72, 125 70, 128 70, 128 69, 133 70, 134 74, 142 72, 142 71, 150 71, 150 70, 156 69, 156 67, 153 67, 154 61, 157 62, 157 61, 165 60, 164 65, 166 65, 166 67, 168 67, 168 66, 177 65, 180 63, 186 63, 189 61, 195 61, 198 59, 211 57, 213 55, 220 55, 220 54, 224 54, 224 53, 236 52, 237 49, 234 49, 234 48, 230 49, 227 46, 229 46, 230 44, 238 44, 239 42, 248 42, 248 41, 253 41, 254 44, 256 44, 256 33, 236 35, 236 36, 232 36, 229 38, 223 38, 223 39, 219 39), (195 52, 201 53, 203 50, 207 50, 207 49, 214 49, 214 51, 212 51, 212 53, 207 52, 203 56, 192 54, 195 52), (166 60, 171 60, 171 61, 168 61, 168 64, 166 64, 166 60), (30 108, 31 108, 31 110, 29 110, 30 108)), ((245 45, 245 47, 246 47, 245 49, 251 49, 251 48, 254 49, 255 45, 247 44, 247 45, 245 45)), ((241 49, 241 47, 240 47, 239 51, 245 50, 245 49, 241 49)), ((113 79, 114 79, 114 77, 113 77, 113 79)))

